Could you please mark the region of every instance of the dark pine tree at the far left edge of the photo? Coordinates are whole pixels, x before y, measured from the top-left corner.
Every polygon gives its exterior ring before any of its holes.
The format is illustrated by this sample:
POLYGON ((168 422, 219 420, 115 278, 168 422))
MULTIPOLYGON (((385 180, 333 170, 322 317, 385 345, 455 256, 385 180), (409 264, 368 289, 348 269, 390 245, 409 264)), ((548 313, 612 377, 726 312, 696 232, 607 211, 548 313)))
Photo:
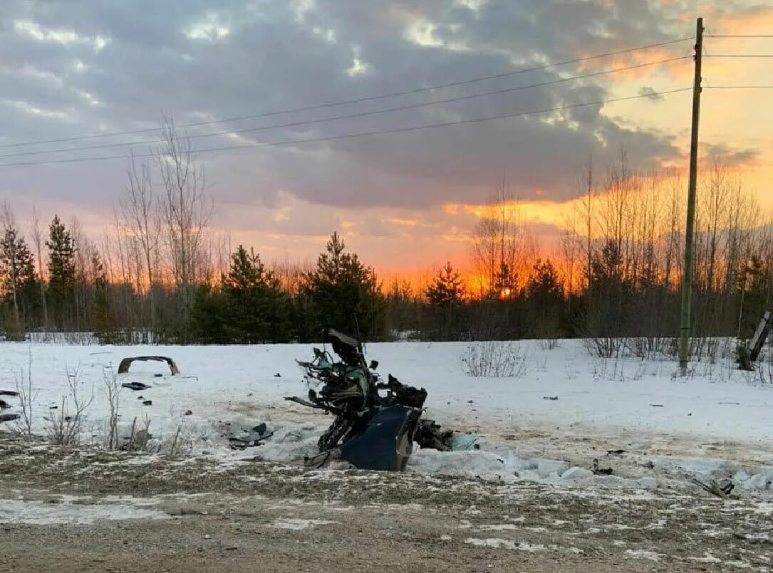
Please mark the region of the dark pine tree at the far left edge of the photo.
POLYGON ((5 303, 12 309, 9 326, 5 329, 9 336, 23 337, 24 320, 22 315, 32 314, 34 304, 29 293, 36 285, 35 259, 24 237, 11 225, 5 229, 0 239, 0 281, 5 303))

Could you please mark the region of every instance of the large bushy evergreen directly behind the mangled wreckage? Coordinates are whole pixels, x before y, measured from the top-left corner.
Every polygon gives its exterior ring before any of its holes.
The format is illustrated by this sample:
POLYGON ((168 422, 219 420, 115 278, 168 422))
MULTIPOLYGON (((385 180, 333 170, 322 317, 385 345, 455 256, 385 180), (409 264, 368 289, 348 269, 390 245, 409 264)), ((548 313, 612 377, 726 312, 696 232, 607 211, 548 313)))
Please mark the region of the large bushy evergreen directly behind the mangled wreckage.
POLYGON ((333 327, 363 339, 383 335, 385 308, 376 273, 356 253, 346 252, 337 232, 317 259, 317 268, 306 276, 304 290, 319 327, 333 327))

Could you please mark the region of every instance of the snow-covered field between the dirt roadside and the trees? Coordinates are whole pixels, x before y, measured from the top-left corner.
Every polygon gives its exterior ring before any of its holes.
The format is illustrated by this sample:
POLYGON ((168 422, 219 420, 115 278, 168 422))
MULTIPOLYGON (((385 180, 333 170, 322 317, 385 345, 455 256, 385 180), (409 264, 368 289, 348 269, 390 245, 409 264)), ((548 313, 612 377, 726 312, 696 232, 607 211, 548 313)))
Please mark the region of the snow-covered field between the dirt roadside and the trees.
MULTIPOLYGON (((689 476, 733 478, 741 489, 770 490, 773 480, 773 388, 733 368, 730 361, 696 364, 689 378, 673 376, 673 361, 604 360, 582 341, 543 348, 514 343, 523 368, 514 378, 473 378, 462 369, 465 343, 368 344, 383 376, 427 388, 427 417, 444 427, 481 436, 476 451, 414 453, 420 473, 530 479, 599 487, 665 487, 689 476), (618 450, 625 450, 620 452, 618 450), (594 476, 593 459, 614 469, 594 476)), ((105 378, 121 358, 168 355, 181 374, 162 363, 135 363, 123 381, 152 388, 122 389, 121 429, 149 421, 152 442, 163 452, 172 442, 194 455, 218 456, 225 467, 240 457, 300 463, 313 453, 329 416, 283 400, 305 395, 295 359, 312 345, 110 347, 0 344, 0 389, 26 378, 31 360, 33 426, 61 411, 68 380, 81 398, 94 395, 83 423, 83 441, 104 442, 105 378), (77 374, 76 374, 77 373, 77 374), (158 377, 155 374, 162 376, 158 377), (152 404, 144 402, 152 401, 152 404), (57 409, 52 409, 57 406, 57 409), (266 422, 274 430, 265 446, 233 452, 224 429, 249 430, 266 422), (230 424, 230 426, 225 426, 230 424)), ((13 402, 14 398, 9 398, 13 402)), ((245 434, 246 435, 246 434, 245 434)))

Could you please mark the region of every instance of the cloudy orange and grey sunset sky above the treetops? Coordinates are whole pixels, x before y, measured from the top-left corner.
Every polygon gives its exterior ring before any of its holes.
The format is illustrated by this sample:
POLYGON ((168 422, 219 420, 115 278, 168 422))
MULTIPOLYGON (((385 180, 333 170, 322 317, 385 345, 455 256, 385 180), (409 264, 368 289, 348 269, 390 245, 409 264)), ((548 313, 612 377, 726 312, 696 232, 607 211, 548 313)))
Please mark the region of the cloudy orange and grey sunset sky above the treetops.
MULTIPOLYGON (((126 182, 125 159, 153 132, 31 141, 254 116, 505 74, 693 36, 773 34, 773 6, 744 0, 4 0, 0 3, 0 200, 26 219, 76 215, 100 235, 126 182), (73 147, 133 144, 72 151, 73 147), (66 148, 53 154, 30 154, 66 148), (19 155, 19 154, 25 155, 19 155), (36 164, 9 165, 19 162, 36 164), (5 165, 5 166, 2 166, 5 165)), ((190 127, 194 148, 314 139, 198 155, 216 228, 264 259, 314 259, 342 232, 386 273, 461 263, 475 206, 503 174, 545 249, 574 181, 625 148, 644 167, 686 168, 690 91, 396 134, 358 132, 523 114, 690 87, 691 59, 392 113, 361 114, 692 54, 692 40, 399 97, 190 127), (300 124, 300 125, 298 125, 300 124)), ((701 154, 744 176, 773 212, 773 38, 707 37, 701 154)))

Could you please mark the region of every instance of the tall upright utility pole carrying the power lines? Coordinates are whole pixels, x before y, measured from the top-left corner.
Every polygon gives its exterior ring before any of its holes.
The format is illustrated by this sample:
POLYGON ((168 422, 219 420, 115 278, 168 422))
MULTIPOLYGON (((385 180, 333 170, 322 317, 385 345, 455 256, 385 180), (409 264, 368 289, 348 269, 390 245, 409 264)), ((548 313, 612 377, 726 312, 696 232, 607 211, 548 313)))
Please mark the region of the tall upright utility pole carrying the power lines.
POLYGON ((700 117, 700 64, 703 56, 703 18, 695 29, 695 79, 693 80, 693 129, 690 134, 690 181, 687 187, 687 222, 684 229, 684 270, 682 273, 682 327, 679 331, 679 371, 687 375, 690 358, 690 309, 693 298, 693 233, 698 178, 698 119, 700 117))

